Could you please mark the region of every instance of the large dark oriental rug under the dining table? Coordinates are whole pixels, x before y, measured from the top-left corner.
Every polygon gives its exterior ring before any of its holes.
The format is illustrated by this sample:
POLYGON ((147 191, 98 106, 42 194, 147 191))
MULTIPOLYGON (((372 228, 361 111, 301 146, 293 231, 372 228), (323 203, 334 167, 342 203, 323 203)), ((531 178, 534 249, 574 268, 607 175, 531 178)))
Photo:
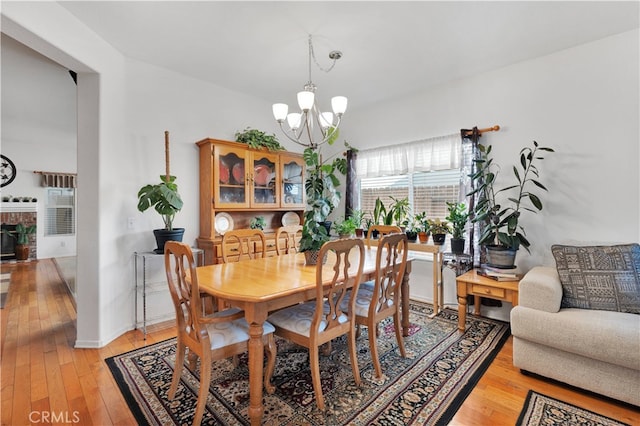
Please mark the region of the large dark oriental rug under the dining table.
MULTIPOLYGON (((509 325, 468 315, 467 329, 460 333, 457 311, 445 309, 430 319, 432 312, 429 304, 411 302, 406 358, 400 356, 392 321, 380 324, 380 379, 363 330, 358 338, 360 387, 353 380, 346 339, 334 340, 331 354, 320 357, 324 412, 315 403, 307 349, 276 337, 276 391, 264 394, 263 424, 446 425, 500 351, 509 325)), ((175 350, 176 340, 170 339, 106 360, 141 425, 191 424, 198 369, 183 368, 176 398, 170 401, 175 350)), ((248 405, 246 354, 235 368, 231 360, 214 362, 202 424, 247 425, 248 405)))

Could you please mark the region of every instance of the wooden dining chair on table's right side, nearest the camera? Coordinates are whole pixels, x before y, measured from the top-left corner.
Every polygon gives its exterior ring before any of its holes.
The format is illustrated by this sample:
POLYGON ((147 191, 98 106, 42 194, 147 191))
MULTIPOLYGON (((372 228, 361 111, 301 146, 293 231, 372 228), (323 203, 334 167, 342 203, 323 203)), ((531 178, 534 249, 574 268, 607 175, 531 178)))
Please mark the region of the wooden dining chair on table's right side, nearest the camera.
POLYGON ((309 349, 309 364, 316 404, 324 410, 320 382, 320 346, 341 335, 347 335, 351 369, 360 386, 360 370, 356 353, 354 303, 343 307, 347 291, 358 290, 364 266, 364 243, 359 239, 329 241, 320 248, 319 258, 332 252, 327 263, 316 265, 316 299, 279 310, 267 320, 276 335, 309 349))

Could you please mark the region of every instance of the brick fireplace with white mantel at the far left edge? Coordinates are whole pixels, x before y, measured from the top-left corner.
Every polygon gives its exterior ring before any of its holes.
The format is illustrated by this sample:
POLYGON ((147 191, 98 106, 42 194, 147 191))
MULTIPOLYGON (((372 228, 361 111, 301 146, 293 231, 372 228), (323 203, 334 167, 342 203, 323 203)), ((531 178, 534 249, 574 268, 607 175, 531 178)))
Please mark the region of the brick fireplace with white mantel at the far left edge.
MULTIPOLYGON (((0 212, 0 227, 2 228, 2 261, 15 260, 16 239, 4 232, 16 229, 18 223, 24 226, 35 225, 38 222, 38 204, 36 202, 3 202, 0 212)), ((37 258, 36 234, 29 235, 29 259, 37 258)))

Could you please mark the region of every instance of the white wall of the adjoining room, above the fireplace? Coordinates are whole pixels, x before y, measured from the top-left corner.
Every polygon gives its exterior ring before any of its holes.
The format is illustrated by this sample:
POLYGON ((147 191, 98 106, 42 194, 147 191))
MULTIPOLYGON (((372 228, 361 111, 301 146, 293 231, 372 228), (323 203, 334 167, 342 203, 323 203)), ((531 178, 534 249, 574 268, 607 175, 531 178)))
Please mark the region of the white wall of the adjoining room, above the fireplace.
POLYGON ((17 174, 1 192, 38 199, 38 258, 76 253, 75 236, 44 236, 47 191, 33 173, 76 172, 76 121, 76 85, 68 70, 3 34, 2 153, 17 174))

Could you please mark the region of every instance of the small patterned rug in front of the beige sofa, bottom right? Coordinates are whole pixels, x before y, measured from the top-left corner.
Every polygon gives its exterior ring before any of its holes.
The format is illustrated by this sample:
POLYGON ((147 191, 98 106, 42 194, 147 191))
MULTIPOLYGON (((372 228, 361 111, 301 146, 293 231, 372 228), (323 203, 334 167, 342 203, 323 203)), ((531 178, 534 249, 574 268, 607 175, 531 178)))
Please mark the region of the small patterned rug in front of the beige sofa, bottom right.
POLYGON ((529 391, 516 426, 628 426, 610 417, 529 391))

